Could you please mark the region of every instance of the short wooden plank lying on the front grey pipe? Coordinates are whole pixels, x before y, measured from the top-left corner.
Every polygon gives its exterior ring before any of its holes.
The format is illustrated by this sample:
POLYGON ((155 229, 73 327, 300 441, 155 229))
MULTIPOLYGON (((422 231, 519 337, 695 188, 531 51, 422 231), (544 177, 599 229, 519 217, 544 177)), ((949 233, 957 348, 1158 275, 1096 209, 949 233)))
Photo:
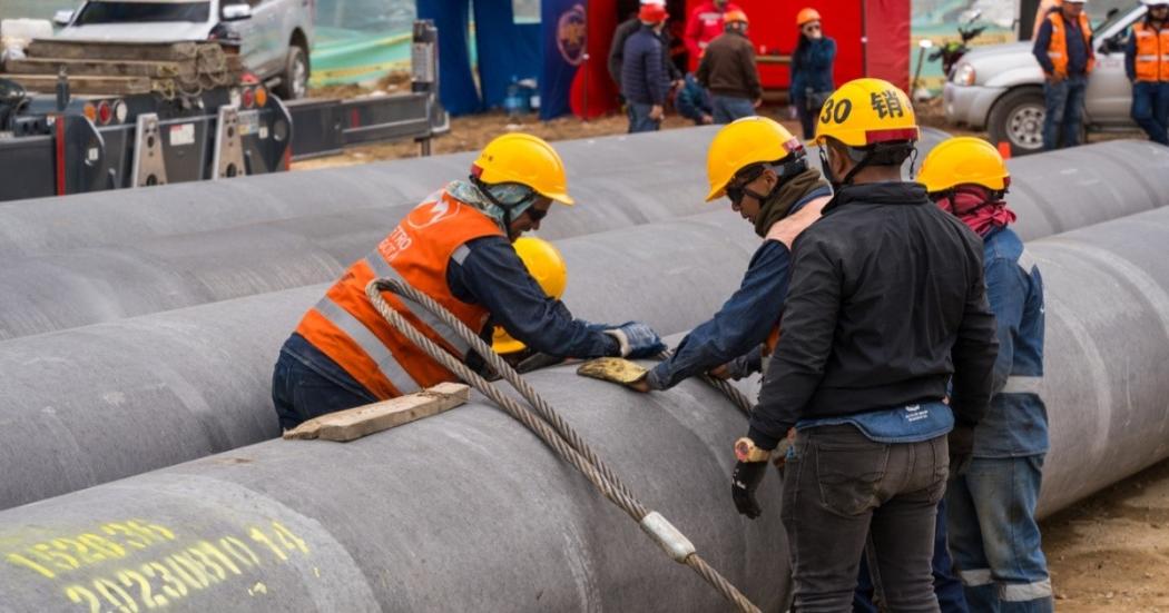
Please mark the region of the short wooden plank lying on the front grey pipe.
POLYGON ((284 432, 284 438, 350 441, 382 430, 438 415, 471 399, 462 383, 440 383, 417 393, 390 398, 310 419, 284 432))

